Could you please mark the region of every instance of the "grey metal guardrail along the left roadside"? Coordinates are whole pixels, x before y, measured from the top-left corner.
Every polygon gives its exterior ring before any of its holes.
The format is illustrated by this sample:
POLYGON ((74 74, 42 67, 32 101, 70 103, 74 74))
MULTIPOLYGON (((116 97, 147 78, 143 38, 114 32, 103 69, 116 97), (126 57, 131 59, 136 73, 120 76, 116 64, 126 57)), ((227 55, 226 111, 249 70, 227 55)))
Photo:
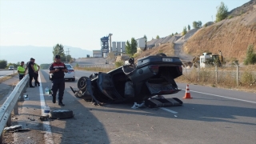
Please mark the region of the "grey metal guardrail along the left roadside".
POLYGON ((10 93, 9 97, 2 104, 0 110, 0 144, 2 144, 2 131, 6 126, 11 125, 11 113, 18 114, 18 98, 23 98, 23 93, 26 87, 29 86, 29 74, 26 74, 24 78, 15 86, 14 90, 10 93))

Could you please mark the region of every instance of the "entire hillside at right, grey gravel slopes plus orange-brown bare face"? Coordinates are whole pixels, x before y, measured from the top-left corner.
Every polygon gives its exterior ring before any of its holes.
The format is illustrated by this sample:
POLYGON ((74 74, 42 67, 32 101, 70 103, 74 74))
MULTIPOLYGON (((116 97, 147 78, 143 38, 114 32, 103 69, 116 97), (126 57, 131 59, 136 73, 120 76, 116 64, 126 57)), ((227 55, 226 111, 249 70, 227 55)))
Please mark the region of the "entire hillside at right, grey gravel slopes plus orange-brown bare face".
POLYGON ((182 62, 191 62, 203 52, 218 54, 218 50, 221 50, 226 62, 237 59, 242 63, 246 58, 247 46, 254 44, 256 49, 256 0, 230 10, 229 17, 221 22, 206 23, 207 26, 190 30, 184 36, 177 34, 152 39, 146 43, 150 50, 142 51, 136 58, 172 50, 172 55, 181 58, 182 62), (168 46, 170 43, 174 46, 168 46), (161 49, 162 46, 168 47, 161 49))

